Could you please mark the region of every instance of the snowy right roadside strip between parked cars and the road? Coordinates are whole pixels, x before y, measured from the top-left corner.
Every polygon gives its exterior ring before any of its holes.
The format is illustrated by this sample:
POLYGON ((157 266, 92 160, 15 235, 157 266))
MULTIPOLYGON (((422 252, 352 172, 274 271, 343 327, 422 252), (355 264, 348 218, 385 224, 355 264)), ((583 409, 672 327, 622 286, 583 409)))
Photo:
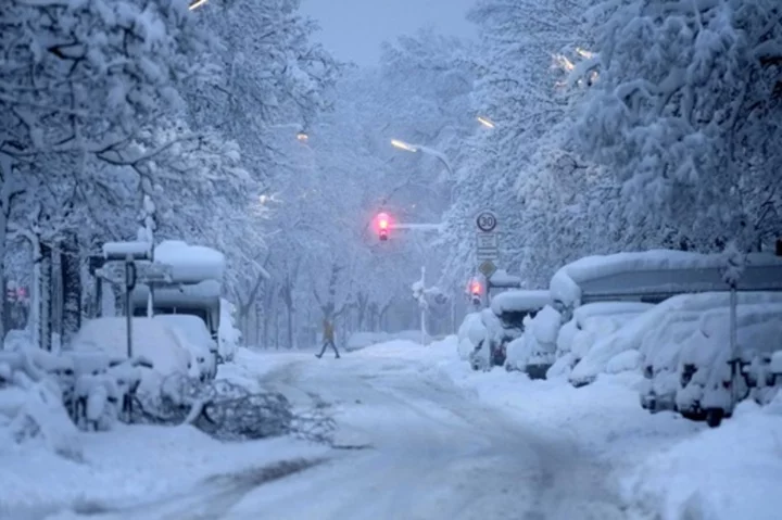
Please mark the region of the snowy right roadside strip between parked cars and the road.
POLYGON ((575 389, 565 380, 530 381, 519 372, 475 372, 456 360, 455 340, 437 346, 426 355, 441 377, 541 431, 577 439, 605 459, 629 511, 660 520, 778 520, 782 515, 780 396, 766 408, 743 403, 733 419, 710 430, 672 413, 643 410, 638 375, 604 375, 575 389))

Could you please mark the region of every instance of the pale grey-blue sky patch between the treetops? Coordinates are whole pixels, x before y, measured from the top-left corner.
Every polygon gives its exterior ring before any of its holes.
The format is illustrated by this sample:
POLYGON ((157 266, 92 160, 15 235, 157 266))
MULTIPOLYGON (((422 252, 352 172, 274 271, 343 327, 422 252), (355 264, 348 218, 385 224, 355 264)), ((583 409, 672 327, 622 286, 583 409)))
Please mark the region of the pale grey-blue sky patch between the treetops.
POLYGON ((439 33, 474 36, 465 13, 474 0, 302 0, 317 20, 317 38, 338 59, 374 65, 383 40, 433 26, 439 33))

